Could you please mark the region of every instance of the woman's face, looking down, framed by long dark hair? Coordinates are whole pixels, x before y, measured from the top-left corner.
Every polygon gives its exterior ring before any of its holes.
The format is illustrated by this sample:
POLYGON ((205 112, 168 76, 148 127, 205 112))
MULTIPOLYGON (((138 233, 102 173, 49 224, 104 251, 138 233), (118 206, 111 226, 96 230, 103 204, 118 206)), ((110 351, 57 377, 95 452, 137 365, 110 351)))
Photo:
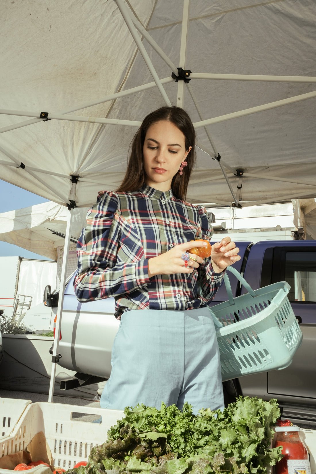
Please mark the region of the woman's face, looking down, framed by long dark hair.
POLYGON ((159 191, 169 191, 172 178, 179 172, 190 149, 191 146, 186 151, 185 137, 172 122, 154 123, 147 130, 143 146, 146 183, 159 191))

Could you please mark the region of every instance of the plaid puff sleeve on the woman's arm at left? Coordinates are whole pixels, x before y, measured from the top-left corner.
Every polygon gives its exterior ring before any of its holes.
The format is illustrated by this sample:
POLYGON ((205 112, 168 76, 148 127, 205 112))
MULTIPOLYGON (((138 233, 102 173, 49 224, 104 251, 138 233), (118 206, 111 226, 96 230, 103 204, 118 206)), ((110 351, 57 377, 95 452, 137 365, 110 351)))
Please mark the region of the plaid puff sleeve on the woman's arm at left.
POLYGON ((102 191, 87 215, 77 244, 78 274, 74 281, 81 302, 130 293, 146 286, 148 259, 118 262, 121 216, 116 193, 102 191))

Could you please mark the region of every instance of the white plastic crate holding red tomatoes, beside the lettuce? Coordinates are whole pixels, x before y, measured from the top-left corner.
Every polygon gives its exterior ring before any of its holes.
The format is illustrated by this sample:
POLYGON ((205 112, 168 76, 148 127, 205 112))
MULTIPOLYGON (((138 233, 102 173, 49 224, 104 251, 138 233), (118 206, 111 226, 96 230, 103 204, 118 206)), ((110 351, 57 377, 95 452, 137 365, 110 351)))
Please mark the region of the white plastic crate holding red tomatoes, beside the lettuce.
MULTIPOLYGON (((0 457, 27 448, 32 438, 43 431, 55 467, 69 469, 88 459, 90 450, 108 439, 108 429, 124 416, 121 410, 104 410, 63 403, 31 403, 9 436, 0 438, 0 457), (80 414, 87 416, 76 418, 80 414), (101 418, 101 423, 94 420, 101 418)), ((33 469, 27 471, 32 474, 33 469)), ((0 470, 0 474, 15 471, 0 470)))

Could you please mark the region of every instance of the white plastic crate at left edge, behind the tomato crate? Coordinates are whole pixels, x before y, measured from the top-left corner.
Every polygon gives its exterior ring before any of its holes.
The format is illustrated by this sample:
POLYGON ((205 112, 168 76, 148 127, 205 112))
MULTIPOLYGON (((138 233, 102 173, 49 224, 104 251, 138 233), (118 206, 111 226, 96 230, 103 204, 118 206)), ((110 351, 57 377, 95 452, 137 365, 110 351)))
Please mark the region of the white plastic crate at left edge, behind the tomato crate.
POLYGON ((0 398, 0 439, 12 432, 30 403, 32 403, 31 400, 0 398))

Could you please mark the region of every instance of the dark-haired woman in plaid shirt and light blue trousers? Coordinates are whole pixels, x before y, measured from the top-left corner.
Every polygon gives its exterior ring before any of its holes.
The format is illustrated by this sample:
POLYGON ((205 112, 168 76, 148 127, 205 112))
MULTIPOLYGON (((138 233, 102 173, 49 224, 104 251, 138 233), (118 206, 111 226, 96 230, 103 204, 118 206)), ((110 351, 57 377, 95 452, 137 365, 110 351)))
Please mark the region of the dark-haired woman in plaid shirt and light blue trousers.
POLYGON ((121 319, 102 408, 137 403, 160 408, 224 407, 219 352, 207 302, 226 267, 240 259, 229 237, 203 260, 191 240, 211 235, 204 208, 185 202, 195 163, 188 114, 162 107, 147 115, 132 142, 123 182, 102 191, 77 253, 79 301, 114 296, 121 319))

